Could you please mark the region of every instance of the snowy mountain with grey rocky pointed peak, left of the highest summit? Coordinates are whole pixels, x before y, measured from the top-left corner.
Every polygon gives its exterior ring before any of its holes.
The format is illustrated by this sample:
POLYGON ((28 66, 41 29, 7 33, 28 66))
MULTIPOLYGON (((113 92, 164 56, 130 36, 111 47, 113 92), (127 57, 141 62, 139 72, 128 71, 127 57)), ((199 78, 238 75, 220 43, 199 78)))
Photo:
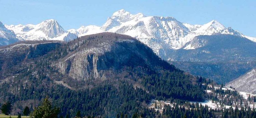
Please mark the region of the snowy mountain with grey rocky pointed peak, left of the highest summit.
POLYGON ((9 30, 15 32, 19 40, 72 40, 76 34, 65 31, 60 24, 53 19, 45 20, 39 24, 5 25, 9 30))

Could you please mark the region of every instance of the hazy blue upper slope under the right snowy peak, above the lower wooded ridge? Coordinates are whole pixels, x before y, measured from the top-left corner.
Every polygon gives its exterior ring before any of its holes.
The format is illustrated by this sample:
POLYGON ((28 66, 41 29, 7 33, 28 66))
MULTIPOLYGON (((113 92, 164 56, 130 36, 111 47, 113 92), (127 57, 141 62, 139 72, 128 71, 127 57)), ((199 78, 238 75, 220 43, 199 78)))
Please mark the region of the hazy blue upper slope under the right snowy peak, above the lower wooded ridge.
POLYGON ((202 35, 197 36, 193 41, 201 45, 197 49, 179 49, 170 52, 172 60, 179 61, 200 61, 200 62, 221 62, 221 61, 253 61, 256 55, 256 43, 233 35, 202 35))

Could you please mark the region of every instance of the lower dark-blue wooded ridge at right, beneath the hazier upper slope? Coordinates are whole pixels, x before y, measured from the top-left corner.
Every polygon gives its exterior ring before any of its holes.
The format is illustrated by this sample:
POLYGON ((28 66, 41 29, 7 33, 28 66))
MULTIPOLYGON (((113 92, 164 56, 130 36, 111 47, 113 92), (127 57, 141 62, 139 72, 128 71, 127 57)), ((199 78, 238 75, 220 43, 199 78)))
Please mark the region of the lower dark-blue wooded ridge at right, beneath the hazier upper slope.
POLYGON ((168 61, 175 67, 193 75, 202 76, 221 84, 228 83, 240 77, 256 66, 256 62, 229 61, 229 62, 188 62, 168 61))

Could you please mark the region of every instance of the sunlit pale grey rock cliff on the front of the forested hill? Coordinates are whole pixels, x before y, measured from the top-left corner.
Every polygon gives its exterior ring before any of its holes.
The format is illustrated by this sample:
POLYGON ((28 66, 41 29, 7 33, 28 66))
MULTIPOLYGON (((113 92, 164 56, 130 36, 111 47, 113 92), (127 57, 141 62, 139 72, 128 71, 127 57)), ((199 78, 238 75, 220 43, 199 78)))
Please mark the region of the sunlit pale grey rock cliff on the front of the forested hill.
POLYGON ((99 76, 99 71, 97 68, 99 61, 98 57, 102 55, 103 48, 104 47, 85 49, 71 55, 65 61, 59 63, 59 71, 62 74, 68 74, 68 76, 73 79, 82 81, 103 77, 103 74, 99 76))

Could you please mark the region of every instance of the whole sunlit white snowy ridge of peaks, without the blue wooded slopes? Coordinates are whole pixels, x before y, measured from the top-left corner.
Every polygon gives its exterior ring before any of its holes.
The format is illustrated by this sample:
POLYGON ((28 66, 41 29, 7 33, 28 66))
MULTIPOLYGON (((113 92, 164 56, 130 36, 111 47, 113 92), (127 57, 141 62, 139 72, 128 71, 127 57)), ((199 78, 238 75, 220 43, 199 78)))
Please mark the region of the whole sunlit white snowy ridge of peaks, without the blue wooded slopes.
POLYGON ((79 29, 65 31, 53 19, 45 20, 37 25, 5 25, 13 30, 19 40, 72 40, 84 35, 101 32, 115 32, 130 35, 153 49, 160 56, 168 50, 196 49, 204 44, 197 44, 199 35, 230 34, 248 38, 256 42, 256 38, 226 28, 216 20, 204 25, 182 23, 173 17, 145 16, 142 13, 131 14, 125 10, 114 12, 103 26, 81 26, 79 29), (160 54, 161 53, 161 54, 160 54))

